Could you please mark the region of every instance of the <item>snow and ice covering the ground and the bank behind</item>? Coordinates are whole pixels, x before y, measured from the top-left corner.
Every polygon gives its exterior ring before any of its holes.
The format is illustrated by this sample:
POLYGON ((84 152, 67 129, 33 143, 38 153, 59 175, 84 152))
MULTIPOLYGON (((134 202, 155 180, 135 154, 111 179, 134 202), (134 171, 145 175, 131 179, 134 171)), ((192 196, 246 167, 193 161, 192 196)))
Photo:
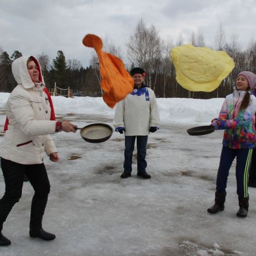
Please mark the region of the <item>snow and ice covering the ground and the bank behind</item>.
MULTIPOLYGON (((0 129, 9 94, 0 93, 0 129)), ((24 183, 3 233, 11 246, 1 255, 255 255, 255 188, 249 187, 247 218, 236 216, 238 198, 233 163, 225 210, 210 215, 222 147, 222 131, 189 136, 186 130, 209 124, 223 98, 158 98, 161 127, 150 134, 147 172, 152 179, 121 179, 124 136, 114 132, 103 143, 84 141, 79 132, 52 135, 61 160, 45 164, 51 193, 43 220, 56 234, 51 242, 29 238, 33 189, 24 183)), ((56 116, 82 127, 112 125, 114 109, 102 98, 53 97, 56 116)), ((4 135, 4 133, 0 133, 4 135)), ((1 140, 1 136, 0 136, 1 140)), ((136 153, 136 150, 135 152, 136 153)), ((3 176, 0 193, 4 193, 3 176)))

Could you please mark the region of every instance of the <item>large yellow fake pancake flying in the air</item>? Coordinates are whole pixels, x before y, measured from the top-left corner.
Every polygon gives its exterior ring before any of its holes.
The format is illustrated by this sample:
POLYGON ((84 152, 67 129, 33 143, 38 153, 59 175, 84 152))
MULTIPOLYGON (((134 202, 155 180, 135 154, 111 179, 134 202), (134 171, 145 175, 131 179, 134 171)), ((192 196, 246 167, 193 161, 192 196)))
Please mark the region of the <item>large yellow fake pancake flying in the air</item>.
POLYGON ((178 46, 170 51, 176 80, 194 92, 212 92, 234 68, 234 61, 224 51, 193 45, 178 46))

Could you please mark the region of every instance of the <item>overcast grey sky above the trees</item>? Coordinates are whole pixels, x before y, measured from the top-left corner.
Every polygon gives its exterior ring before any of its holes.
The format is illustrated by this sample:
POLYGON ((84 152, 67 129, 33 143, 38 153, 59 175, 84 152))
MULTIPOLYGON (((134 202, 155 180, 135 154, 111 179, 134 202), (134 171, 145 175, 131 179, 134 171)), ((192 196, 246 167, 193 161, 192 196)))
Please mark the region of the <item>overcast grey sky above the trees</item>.
POLYGON ((188 43, 195 32, 214 46, 221 24, 226 40, 239 35, 242 49, 256 39, 256 0, 1 0, 0 48, 10 56, 15 50, 45 53, 50 60, 62 50, 86 67, 94 50, 84 47, 82 38, 91 33, 120 47, 125 61, 126 44, 140 18, 174 42, 182 35, 188 43))

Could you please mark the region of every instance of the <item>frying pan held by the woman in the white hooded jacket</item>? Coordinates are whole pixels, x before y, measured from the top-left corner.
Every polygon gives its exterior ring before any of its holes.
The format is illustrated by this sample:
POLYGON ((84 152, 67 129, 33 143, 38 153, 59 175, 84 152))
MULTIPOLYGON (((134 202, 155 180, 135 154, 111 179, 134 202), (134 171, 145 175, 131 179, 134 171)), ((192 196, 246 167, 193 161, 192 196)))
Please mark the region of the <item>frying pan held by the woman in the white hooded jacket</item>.
POLYGON ((75 127, 75 130, 81 130, 80 134, 82 138, 91 143, 100 143, 108 140, 113 129, 110 125, 105 123, 92 123, 82 128, 75 127))

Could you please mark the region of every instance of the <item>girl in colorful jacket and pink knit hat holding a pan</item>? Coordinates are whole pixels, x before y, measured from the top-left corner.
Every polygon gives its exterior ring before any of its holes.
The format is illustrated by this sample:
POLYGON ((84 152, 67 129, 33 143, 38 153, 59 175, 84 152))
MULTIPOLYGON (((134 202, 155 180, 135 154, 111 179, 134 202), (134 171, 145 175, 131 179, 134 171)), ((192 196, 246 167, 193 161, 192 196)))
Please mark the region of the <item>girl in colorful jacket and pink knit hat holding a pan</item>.
POLYGON ((215 204, 208 208, 211 214, 224 210, 229 169, 237 157, 236 178, 239 200, 238 217, 246 217, 249 207, 248 174, 252 148, 256 144, 256 98, 250 90, 256 86, 255 74, 243 71, 238 74, 234 92, 222 105, 219 118, 212 120, 216 130, 225 130, 220 165, 217 174, 215 204))

